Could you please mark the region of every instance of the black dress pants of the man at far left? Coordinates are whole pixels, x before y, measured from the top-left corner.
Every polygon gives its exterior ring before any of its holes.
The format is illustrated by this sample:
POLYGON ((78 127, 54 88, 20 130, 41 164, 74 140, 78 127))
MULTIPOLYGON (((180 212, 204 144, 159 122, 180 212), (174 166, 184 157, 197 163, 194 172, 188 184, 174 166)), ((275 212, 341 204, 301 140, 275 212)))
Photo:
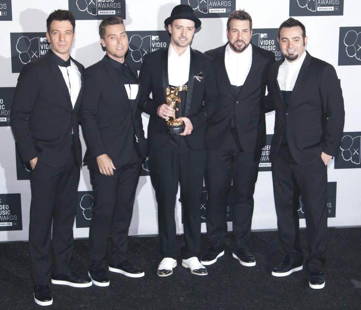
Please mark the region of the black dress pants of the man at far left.
POLYGON ((47 285, 51 275, 70 272, 79 176, 73 154, 60 168, 38 161, 30 174, 29 248, 35 285, 47 285))

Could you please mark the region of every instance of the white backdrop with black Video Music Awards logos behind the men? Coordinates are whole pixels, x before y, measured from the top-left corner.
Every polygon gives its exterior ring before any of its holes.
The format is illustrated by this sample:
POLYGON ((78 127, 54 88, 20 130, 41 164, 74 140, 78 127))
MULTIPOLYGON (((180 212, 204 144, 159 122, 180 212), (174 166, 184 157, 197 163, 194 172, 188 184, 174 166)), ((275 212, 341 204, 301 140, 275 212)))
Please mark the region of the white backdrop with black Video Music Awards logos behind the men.
MULTIPOLYGON (((129 37, 127 62, 137 70, 146 54, 169 44, 164 19, 177 4, 189 4, 202 20, 192 47, 200 51, 227 42, 226 22, 230 12, 245 9, 253 19, 252 43, 281 59, 277 30, 289 16, 301 20, 309 37, 307 50, 332 64, 341 80, 345 98, 345 128, 337 156, 328 165, 328 225, 361 226, 361 21, 359 0, 0 0, 0 241, 28 240, 30 208, 30 167, 22 163, 9 121, 11 103, 21 68, 44 56, 50 46, 45 35, 46 18, 55 9, 69 9, 77 19, 76 39, 71 55, 85 67, 100 60, 104 51, 98 25, 106 16, 125 20, 129 37)), ((266 115, 267 145, 263 148, 254 195, 252 229, 275 229, 270 141, 274 113, 266 115)), ((143 115, 147 133, 148 117, 143 115)), ((81 133, 82 136, 82 133, 81 133)), ((85 144, 82 139, 83 153, 85 144)), ((119 146, 121 147, 121 146, 119 146)), ((157 234, 157 207, 145 159, 136 192, 130 235, 157 234)), ((182 233, 182 206, 177 198, 177 232, 182 233)), ((88 236, 95 207, 89 170, 82 168, 78 189, 75 237, 88 236)), ((201 209, 206 219, 207 188, 201 209)), ((300 226, 305 227, 307 206, 299 199, 300 226)), ((232 192, 227 207, 232 229, 232 192)), ((41 225, 41 223, 38 223, 41 225)), ((202 231, 206 231, 202 224, 202 231)))

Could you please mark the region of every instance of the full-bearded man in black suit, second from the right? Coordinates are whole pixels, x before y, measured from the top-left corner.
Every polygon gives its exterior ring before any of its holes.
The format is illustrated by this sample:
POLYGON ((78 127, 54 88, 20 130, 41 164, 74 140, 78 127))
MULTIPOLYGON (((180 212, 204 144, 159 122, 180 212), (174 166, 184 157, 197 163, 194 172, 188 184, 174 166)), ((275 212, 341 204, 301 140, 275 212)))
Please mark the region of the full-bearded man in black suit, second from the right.
POLYGON ((247 248, 253 215, 253 193, 265 144, 264 95, 273 52, 250 44, 252 18, 233 11, 227 21, 228 43, 206 52, 214 59, 219 109, 207 124, 208 248, 201 263, 224 254, 227 196, 233 183, 233 257, 255 266, 247 248), (232 182, 233 181, 233 182, 232 182))

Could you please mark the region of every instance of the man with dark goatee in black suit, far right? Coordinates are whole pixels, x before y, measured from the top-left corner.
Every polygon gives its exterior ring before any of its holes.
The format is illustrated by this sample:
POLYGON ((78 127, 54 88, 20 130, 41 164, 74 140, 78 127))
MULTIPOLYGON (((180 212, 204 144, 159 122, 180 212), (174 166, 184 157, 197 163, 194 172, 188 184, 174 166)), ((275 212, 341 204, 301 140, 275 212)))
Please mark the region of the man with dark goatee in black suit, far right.
POLYGON ((327 165, 336 154, 345 121, 340 81, 332 65, 306 50, 305 26, 289 18, 279 27, 284 61, 272 65, 268 96, 274 109, 271 142, 273 189, 279 239, 286 254, 272 270, 276 277, 303 268, 297 215, 299 191, 306 205, 309 285, 325 286, 327 165))

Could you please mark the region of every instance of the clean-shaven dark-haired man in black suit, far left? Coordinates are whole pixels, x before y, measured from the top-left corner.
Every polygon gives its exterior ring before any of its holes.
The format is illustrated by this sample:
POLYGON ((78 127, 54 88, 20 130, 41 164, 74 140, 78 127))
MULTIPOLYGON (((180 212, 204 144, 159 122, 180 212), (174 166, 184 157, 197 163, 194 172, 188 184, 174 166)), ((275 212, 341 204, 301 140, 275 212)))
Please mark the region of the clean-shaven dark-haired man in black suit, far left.
POLYGON ((11 111, 21 158, 33 169, 29 247, 34 299, 41 306, 52 303, 50 279, 73 287, 92 285, 69 267, 82 164, 78 113, 84 70, 70 57, 74 30, 71 12, 56 10, 49 15, 51 50, 22 69, 11 111))

